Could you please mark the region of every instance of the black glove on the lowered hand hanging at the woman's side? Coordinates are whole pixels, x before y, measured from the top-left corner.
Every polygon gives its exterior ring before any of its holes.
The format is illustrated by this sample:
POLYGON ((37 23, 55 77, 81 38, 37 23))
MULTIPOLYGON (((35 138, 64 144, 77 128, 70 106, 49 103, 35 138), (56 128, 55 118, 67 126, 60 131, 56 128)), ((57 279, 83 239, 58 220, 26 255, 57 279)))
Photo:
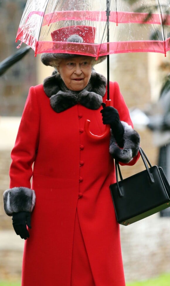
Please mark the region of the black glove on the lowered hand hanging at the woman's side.
POLYGON ((13 213, 12 220, 13 228, 17 235, 20 235, 20 237, 23 239, 27 239, 28 237, 30 237, 26 226, 31 228, 31 213, 13 213))

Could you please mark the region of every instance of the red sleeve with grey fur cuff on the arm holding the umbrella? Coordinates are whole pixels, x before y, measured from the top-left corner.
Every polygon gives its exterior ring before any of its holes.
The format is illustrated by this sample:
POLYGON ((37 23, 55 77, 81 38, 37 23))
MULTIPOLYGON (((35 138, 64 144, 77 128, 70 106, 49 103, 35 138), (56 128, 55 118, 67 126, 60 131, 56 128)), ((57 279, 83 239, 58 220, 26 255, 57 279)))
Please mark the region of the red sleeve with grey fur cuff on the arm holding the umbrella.
POLYGON ((140 156, 140 136, 137 131, 133 129, 129 110, 122 94, 120 93, 119 85, 117 82, 111 83, 111 91, 113 107, 115 107, 119 112, 120 120, 124 126, 125 132, 123 135, 124 147, 120 148, 117 145, 113 133, 111 131, 109 151, 113 158, 119 160, 121 165, 134 165, 140 156))

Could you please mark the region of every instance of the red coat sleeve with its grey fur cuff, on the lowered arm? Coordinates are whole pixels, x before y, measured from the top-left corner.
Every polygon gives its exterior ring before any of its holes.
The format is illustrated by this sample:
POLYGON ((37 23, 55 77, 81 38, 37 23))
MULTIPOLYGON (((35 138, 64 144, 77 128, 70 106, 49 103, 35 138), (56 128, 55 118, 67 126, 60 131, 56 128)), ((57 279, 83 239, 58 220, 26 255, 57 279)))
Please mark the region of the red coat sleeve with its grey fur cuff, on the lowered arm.
POLYGON ((35 88, 31 87, 24 107, 16 142, 11 152, 9 170, 10 189, 3 194, 4 210, 12 216, 18 212, 32 212, 35 191, 30 189, 33 175, 32 165, 39 142, 40 112, 35 88))

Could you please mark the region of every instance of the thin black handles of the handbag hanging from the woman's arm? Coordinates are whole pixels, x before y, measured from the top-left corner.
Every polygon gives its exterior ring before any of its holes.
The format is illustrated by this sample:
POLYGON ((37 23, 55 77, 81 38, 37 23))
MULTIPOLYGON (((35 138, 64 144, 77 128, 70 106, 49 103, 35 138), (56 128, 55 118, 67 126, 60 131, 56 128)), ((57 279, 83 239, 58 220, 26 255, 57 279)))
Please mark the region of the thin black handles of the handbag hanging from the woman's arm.
MULTIPOLYGON (((144 153, 143 149, 140 147, 139 148, 139 153, 141 155, 141 158, 144 162, 144 165, 147 169, 147 172, 148 172, 148 177, 149 177, 149 181, 150 183, 154 183, 154 178, 153 178, 153 175, 151 174, 150 170, 149 170, 149 167, 152 167, 151 163, 149 162, 149 159, 147 157, 147 155, 144 153), (149 165, 149 167, 148 167, 149 165)), ((118 172, 119 172, 119 177, 120 177, 120 180, 122 181, 123 180, 123 177, 122 177, 122 174, 121 174, 121 171, 120 171, 120 166, 119 166, 119 162, 117 159, 115 159, 115 171, 116 171, 116 183, 117 183, 117 186, 118 186, 118 191, 119 191, 119 195, 120 197, 123 197, 123 193, 120 189, 120 186, 119 186, 119 182, 118 182, 118 172)))

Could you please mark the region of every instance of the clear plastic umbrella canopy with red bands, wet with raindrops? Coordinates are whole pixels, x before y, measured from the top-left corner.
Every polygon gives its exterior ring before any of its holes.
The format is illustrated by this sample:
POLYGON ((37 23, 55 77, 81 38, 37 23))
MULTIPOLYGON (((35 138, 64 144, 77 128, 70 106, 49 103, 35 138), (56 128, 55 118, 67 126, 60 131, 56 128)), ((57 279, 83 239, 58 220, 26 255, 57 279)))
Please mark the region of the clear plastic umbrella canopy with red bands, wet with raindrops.
POLYGON ((16 41, 40 53, 103 56, 170 50, 170 0, 28 0, 16 41), (109 40, 108 25, 109 20, 109 40), (69 26, 93 27, 91 42, 70 43, 51 33, 69 26), (108 44, 109 42, 109 44, 108 44))

